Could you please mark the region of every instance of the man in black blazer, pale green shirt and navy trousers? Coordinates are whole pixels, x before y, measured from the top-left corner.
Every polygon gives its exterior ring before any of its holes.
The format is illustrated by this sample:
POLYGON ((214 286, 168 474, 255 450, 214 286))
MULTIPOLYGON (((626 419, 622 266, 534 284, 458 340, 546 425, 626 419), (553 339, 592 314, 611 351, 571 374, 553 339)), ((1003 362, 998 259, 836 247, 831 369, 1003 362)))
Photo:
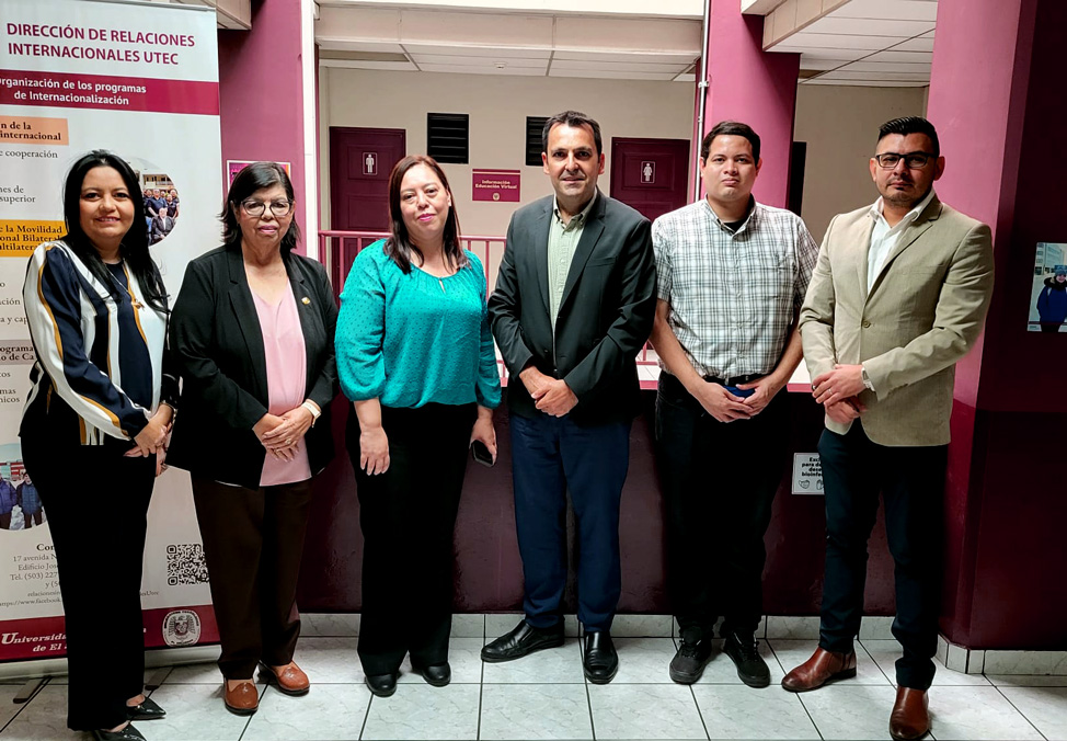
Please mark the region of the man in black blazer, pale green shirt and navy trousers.
POLYGON ((619 502, 640 404, 634 357, 656 307, 650 224, 599 193, 600 126, 565 111, 541 134, 554 196, 517 210, 496 290, 493 333, 510 374, 515 522, 525 619, 482 649, 510 661, 562 646, 566 492, 577 521, 578 619, 590 682, 619 666, 609 629, 621 592, 619 502))

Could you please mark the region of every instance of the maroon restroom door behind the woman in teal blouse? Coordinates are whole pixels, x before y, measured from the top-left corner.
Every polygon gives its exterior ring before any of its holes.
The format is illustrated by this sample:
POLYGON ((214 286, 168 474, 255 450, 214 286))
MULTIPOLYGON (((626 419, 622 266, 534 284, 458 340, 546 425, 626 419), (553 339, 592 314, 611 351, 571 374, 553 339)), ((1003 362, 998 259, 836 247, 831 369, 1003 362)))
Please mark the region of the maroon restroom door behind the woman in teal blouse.
POLYGON ((330 127, 330 226, 389 230, 389 173, 408 153, 402 128, 330 127))

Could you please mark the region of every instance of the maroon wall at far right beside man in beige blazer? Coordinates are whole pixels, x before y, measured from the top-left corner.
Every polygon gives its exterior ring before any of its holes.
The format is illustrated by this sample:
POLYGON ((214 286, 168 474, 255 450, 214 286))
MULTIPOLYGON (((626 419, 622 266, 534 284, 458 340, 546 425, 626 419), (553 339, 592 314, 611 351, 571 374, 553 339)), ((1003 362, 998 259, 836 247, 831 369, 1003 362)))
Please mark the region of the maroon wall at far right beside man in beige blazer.
POLYGON ((1036 243, 1067 242, 1065 32, 1060 0, 938 5, 938 192, 993 227, 997 269, 984 346, 960 366, 946 497, 941 625, 972 648, 1067 647, 1067 338, 1026 331, 1036 243))

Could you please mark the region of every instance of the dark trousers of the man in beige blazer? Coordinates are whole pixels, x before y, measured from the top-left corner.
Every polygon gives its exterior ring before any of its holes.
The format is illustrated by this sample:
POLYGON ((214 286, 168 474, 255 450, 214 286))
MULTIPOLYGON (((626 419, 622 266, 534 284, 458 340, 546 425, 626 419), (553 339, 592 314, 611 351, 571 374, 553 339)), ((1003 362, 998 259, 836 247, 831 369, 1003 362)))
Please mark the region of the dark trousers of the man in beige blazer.
POLYGON ((941 602, 941 538, 948 445, 877 445, 852 423, 848 434, 823 431, 818 453, 826 491, 826 579, 819 646, 851 651, 863 615, 867 544, 885 504, 885 535, 893 555, 896 618, 904 647, 896 681, 927 689, 933 681, 941 602))

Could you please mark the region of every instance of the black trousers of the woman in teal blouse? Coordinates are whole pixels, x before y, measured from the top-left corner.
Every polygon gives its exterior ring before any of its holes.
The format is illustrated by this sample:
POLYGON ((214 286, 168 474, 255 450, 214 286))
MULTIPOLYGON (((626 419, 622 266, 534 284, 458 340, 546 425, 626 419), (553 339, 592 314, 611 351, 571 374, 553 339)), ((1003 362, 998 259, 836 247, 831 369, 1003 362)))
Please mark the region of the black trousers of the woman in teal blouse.
POLYGON ((348 455, 363 531, 363 615, 357 651, 368 675, 448 660, 452 535, 477 407, 381 408, 389 469, 359 468, 359 422, 349 412, 348 455))

